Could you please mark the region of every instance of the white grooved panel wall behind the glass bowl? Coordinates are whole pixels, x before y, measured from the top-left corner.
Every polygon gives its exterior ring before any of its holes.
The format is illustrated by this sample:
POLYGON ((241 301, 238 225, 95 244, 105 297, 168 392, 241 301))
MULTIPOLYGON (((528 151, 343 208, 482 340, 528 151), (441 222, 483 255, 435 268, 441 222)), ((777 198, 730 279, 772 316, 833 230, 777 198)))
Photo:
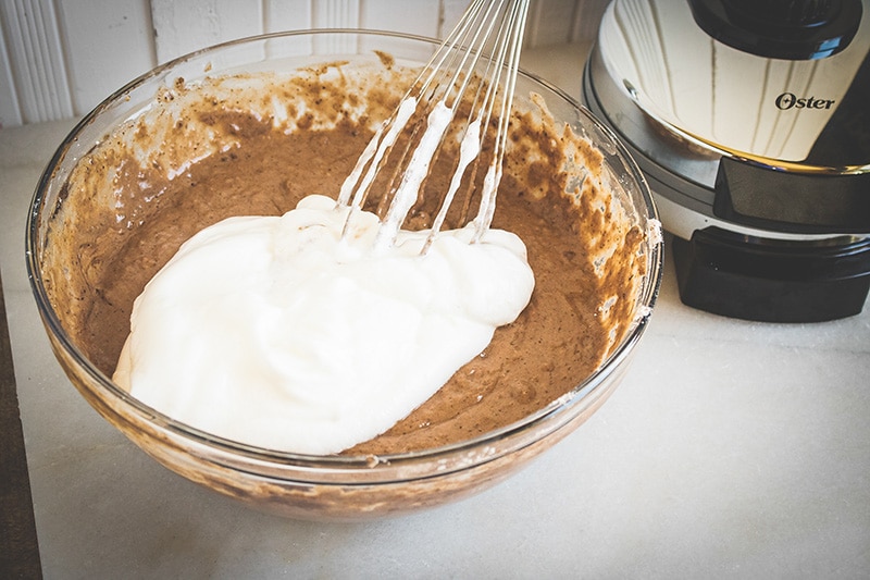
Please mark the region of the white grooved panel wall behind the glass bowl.
MULTIPOLYGON (((443 37, 469 0, 0 0, 0 127, 80 115, 158 63, 243 36, 443 37)), ((607 0, 533 0, 526 46, 586 41, 607 0)))

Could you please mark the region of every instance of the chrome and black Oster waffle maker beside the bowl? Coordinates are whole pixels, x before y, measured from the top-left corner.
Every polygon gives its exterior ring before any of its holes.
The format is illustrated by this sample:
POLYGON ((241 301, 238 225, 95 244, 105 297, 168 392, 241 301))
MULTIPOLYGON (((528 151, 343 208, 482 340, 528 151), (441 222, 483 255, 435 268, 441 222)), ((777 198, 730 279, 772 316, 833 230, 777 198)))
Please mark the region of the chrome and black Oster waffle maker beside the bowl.
POLYGON ((870 0, 616 0, 586 106, 673 234, 680 297, 818 322, 870 289, 870 0))

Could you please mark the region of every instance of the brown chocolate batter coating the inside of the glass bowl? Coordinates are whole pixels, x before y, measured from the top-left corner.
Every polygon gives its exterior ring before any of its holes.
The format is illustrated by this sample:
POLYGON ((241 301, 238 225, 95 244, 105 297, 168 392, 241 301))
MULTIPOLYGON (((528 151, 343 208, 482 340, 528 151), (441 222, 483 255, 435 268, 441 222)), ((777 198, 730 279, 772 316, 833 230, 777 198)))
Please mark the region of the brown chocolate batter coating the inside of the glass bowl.
MULTIPOLYGON (((79 163, 46 280, 67 333, 103 373, 114 370, 134 299, 194 233, 231 215, 281 214, 308 194, 337 195, 408 78, 388 59, 376 74, 348 71, 178 79, 158 98, 165 110, 79 163)), ((511 140, 493 225, 526 244, 531 304, 428 402, 346 453, 423 449, 518 421, 589 377, 632 322, 645 234, 601 185, 600 155, 534 102, 513 119, 511 140)), ((434 198, 449 180, 437 172, 426 183, 434 198)), ((417 220, 425 225, 427 214, 419 208, 417 220)))

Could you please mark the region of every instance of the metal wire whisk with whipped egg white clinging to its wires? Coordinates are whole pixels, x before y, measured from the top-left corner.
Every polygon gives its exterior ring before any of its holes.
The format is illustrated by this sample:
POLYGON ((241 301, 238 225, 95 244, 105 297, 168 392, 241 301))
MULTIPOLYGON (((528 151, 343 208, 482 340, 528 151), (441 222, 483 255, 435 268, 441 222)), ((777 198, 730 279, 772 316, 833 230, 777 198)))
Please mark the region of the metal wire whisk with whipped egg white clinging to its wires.
POLYGON ((492 148, 489 166, 480 187, 480 208, 473 220, 473 242, 486 232, 493 221, 496 192, 501 180, 529 2, 472 1, 399 106, 375 132, 345 180, 338 197, 339 206, 349 205, 351 208, 345 232, 350 227, 355 211, 365 202, 378 174, 389 166, 391 176, 386 185, 380 186, 383 189, 380 192, 381 205, 388 203, 388 208, 382 215, 375 248, 391 245, 418 201, 433 160, 451 125, 458 135, 459 155, 422 251, 428 249, 443 226, 463 183, 473 187, 471 182, 482 150, 492 148), (459 119, 463 102, 470 106, 464 119, 459 119), (493 135, 488 127, 496 108, 498 114, 493 121, 497 122, 497 128, 493 135), (396 147, 399 140, 403 140, 403 147, 396 147), (388 163, 390 157, 394 159, 388 163))

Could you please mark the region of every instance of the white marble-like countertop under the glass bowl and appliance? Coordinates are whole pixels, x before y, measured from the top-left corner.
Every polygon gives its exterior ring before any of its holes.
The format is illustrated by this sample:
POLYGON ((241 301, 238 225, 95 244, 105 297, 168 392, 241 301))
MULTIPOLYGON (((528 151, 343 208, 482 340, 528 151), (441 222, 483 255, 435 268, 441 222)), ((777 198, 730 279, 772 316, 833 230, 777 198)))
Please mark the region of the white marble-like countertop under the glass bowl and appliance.
MULTIPOLYGON (((559 58, 583 48, 526 64, 579 96, 582 60, 559 58)), ((613 396, 480 495, 313 523, 175 476, 78 395, 30 294, 28 203, 73 124, 0 131, 0 269, 46 578, 870 575, 870 306, 821 324, 716 317, 680 303, 670 256, 613 396)))

